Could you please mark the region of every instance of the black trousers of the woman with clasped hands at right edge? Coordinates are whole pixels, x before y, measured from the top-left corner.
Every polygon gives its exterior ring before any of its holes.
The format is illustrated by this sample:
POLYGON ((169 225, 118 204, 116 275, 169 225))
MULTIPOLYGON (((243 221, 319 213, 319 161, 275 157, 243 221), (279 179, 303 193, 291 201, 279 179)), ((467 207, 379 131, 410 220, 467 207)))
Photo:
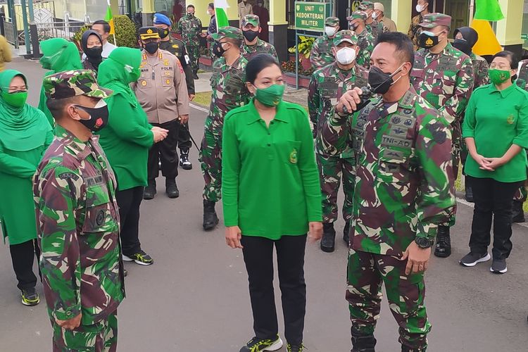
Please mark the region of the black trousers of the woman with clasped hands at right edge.
POLYGON ((474 211, 470 249, 484 254, 491 241, 491 220, 494 225, 494 259, 505 259, 512 250, 513 194, 522 182, 498 182, 491 178, 469 177, 473 189, 474 211))

